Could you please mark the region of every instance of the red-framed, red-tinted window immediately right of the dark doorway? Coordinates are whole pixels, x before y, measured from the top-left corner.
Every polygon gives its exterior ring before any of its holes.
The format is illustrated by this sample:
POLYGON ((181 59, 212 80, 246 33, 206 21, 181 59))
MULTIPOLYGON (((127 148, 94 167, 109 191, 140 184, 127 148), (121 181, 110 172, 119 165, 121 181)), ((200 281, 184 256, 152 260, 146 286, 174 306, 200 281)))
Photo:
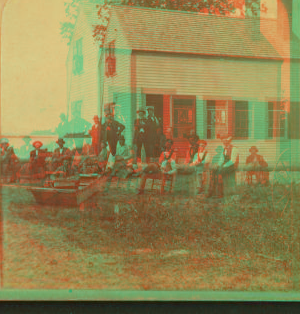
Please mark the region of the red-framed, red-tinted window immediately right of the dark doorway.
POLYGON ((183 139, 195 130, 195 100, 192 98, 173 98, 173 137, 183 139))

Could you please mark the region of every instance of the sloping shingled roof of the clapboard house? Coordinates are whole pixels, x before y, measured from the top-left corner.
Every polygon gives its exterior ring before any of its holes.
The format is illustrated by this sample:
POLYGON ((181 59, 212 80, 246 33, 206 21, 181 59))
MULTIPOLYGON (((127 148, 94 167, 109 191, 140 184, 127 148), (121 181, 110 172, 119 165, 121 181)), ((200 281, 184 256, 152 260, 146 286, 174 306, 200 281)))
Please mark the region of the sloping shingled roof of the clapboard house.
POLYGON ((258 21, 112 6, 133 50, 281 59, 258 21))

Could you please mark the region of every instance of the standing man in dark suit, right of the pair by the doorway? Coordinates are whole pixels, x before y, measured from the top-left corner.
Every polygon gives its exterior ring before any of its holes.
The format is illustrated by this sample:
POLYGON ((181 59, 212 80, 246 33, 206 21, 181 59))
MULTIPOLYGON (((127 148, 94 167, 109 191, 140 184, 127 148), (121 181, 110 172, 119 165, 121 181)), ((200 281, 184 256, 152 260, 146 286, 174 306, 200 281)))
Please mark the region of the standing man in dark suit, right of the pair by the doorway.
POLYGON ((159 122, 154 116, 154 107, 148 106, 148 118, 146 120, 145 131, 145 151, 147 163, 150 162, 150 158, 154 157, 154 148, 157 142, 157 129, 159 128, 159 122))

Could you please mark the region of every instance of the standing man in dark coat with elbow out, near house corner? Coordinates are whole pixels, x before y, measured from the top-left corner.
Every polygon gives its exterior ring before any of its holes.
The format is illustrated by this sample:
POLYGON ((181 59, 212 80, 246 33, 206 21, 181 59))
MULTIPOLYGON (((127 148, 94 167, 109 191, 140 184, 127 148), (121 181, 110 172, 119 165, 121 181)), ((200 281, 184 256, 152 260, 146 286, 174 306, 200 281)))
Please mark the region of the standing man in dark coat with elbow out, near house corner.
POLYGON ((119 136, 124 131, 125 126, 115 121, 113 115, 107 112, 105 115, 105 123, 102 126, 103 140, 108 143, 111 155, 114 157, 117 152, 117 144, 119 136))

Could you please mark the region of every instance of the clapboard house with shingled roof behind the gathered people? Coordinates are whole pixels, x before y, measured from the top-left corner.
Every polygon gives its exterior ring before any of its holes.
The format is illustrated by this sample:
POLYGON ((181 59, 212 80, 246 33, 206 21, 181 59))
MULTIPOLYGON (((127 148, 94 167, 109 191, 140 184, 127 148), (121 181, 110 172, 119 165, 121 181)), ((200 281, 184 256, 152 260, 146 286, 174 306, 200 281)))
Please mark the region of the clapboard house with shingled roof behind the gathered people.
POLYGON ((297 159, 299 97, 292 88, 300 85, 291 72, 299 73, 299 40, 289 28, 293 38, 287 40, 278 19, 115 5, 99 49, 91 30, 95 11, 82 7, 71 43, 69 113, 81 110, 91 120, 111 106, 131 143, 136 110, 151 105, 164 130, 172 127, 180 156, 188 146, 185 134, 194 129, 212 151, 218 134, 230 133, 242 162, 252 145, 274 165, 292 146, 297 159), (72 53, 82 56, 82 69, 72 53))

